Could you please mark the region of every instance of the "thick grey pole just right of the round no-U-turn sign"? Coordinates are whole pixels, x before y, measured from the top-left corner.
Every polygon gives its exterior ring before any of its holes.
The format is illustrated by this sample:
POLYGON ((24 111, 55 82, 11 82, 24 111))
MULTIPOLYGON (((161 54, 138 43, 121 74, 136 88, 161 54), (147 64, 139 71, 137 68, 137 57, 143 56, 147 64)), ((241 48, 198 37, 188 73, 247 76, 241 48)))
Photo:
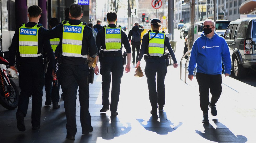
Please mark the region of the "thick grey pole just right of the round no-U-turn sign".
POLYGON ((174 1, 168 0, 168 31, 172 34, 172 39, 174 37, 174 1))

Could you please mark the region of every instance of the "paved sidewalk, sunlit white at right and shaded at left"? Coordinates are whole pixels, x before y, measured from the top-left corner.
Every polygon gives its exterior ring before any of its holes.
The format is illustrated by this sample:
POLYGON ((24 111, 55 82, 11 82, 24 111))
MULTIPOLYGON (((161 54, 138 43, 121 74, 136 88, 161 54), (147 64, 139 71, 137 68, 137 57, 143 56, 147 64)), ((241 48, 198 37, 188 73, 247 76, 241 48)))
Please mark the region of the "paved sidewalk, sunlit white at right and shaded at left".
MULTIPOLYGON (((143 71, 145 62, 141 64, 143 71)), ((184 65, 183 65, 184 66, 184 65)), ((121 79, 119 115, 110 117, 110 111, 101 113, 101 76, 94 77, 90 84, 90 107, 94 131, 82 135, 80 104, 77 99, 77 134, 75 141, 66 140, 66 116, 63 99, 59 109, 44 106, 41 114, 41 128, 32 130, 31 100, 25 117, 26 131, 16 128, 16 110, 6 110, 0 105, 0 142, 256 142, 256 88, 230 77, 223 76, 222 95, 216 104, 218 115, 212 117, 209 111, 209 125, 202 124, 199 105, 198 84, 179 79, 179 68, 167 67, 165 80, 166 105, 159 118, 150 114, 147 78, 134 77, 124 73, 121 79)), ((111 87, 110 87, 111 89, 111 87)), ((45 91, 44 91, 45 93, 45 91)), ((60 91, 60 94, 62 91, 60 91)))

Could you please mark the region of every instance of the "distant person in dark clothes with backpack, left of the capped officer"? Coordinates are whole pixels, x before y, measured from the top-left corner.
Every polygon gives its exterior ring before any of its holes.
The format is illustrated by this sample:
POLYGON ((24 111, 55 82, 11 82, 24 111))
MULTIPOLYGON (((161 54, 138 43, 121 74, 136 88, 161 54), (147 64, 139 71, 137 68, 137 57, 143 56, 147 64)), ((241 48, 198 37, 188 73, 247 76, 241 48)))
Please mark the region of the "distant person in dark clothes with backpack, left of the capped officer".
POLYGON ((131 40, 131 44, 132 44, 132 64, 135 63, 135 48, 137 51, 137 55, 136 55, 136 64, 138 63, 138 56, 139 56, 139 48, 141 46, 141 32, 144 31, 143 27, 141 25, 139 25, 138 22, 135 22, 134 26, 132 27, 132 29, 129 31, 128 34, 128 39, 129 41, 131 40))

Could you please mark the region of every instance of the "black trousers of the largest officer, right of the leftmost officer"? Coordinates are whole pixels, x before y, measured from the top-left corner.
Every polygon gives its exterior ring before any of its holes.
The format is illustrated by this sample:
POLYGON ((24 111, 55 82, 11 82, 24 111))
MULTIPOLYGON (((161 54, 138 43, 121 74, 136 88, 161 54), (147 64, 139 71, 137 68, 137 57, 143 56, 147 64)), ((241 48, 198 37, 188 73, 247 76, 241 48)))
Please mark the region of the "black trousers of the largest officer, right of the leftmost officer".
POLYGON ((75 135, 77 124, 75 120, 75 81, 79 88, 80 122, 82 130, 89 130, 91 126, 91 115, 89 113, 89 67, 84 65, 61 65, 61 88, 63 91, 64 108, 67 117, 67 134, 75 135))

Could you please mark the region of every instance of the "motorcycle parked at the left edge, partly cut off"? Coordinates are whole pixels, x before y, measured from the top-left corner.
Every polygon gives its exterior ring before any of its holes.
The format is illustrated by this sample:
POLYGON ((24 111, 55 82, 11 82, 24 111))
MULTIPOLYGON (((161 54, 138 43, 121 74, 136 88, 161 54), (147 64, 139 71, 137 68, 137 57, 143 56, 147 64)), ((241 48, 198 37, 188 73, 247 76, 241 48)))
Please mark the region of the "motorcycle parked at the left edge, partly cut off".
POLYGON ((4 53, 0 50, 0 104, 7 109, 15 109, 18 106, 19 90, 6 73, 5 65, 10 63, 3 57, 4 53))

